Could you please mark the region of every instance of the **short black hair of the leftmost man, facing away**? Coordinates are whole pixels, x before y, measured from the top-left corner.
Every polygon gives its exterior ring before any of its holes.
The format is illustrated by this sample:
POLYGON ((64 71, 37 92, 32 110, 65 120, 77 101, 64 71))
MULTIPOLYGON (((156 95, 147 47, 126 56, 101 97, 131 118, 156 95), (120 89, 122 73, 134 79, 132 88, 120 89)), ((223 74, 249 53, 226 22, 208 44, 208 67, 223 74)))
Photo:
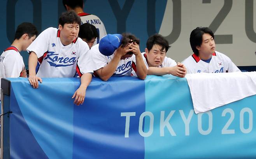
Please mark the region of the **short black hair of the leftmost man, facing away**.
POLYGON ((16 29, 16 33, 14 36, 14 40, 21 38, 23 34, 28 34, 28 38, 38 34, 37 28, 30 22, 23 22, 19 24, 18 28, 16 29))

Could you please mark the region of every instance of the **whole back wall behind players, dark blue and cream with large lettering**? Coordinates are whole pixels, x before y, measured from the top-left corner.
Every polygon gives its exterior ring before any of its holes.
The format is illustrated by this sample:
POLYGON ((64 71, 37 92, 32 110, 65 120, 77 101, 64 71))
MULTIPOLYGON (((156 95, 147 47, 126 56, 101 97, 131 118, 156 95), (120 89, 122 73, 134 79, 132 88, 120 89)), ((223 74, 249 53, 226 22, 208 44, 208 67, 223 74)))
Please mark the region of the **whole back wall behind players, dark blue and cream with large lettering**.
MULTIPOLYGON (((11 45, 21 22, 32 22, 41 33, 58 27, 58 17, 65 11, 62 0, 1 0, 0 6, 2 50, 11 45)), ((255 0, 84 0, 84 12, 100 17, 107 33, 135 34, 142 52, 149 36, 162 34, 172 46, 167 56, 177 62, 192 54, 192 29, 209 26, 216 50, 237 66, 256 67, 255 0)), ((28 67, 28 54, 22 55, 28 67)))

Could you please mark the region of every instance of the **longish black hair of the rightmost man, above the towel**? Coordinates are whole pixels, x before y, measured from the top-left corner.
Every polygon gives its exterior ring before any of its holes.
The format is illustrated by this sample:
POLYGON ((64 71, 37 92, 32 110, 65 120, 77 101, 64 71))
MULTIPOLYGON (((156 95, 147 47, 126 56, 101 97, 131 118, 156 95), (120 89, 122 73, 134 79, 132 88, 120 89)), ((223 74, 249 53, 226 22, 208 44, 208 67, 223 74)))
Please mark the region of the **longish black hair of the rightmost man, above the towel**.
POLYGON ((209 29, 208 27, 197 27, 193 31, 191 31, 190 34, 190 46, 193 50, 193 52, 198 56, 199 52, 196 49, 197 46, 201 46, 203 42, 203 34, 208 33, 212 38, 214 39, 214 34, 212 33, 212 30, 209 29))

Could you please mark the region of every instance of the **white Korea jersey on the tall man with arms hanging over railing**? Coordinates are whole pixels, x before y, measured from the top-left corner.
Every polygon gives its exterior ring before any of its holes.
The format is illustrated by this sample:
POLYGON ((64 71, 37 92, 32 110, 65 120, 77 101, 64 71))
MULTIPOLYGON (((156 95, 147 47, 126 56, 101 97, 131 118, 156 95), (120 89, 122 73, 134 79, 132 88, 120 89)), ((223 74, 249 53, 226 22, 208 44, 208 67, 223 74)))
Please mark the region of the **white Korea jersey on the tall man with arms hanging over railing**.
POLYGON ((60 41, 60 30, 47 28, 26 49, 38 57, 37 76, 44 78, 81 77, 93 73, 89 47, 81 38, 64 46, 60 41))

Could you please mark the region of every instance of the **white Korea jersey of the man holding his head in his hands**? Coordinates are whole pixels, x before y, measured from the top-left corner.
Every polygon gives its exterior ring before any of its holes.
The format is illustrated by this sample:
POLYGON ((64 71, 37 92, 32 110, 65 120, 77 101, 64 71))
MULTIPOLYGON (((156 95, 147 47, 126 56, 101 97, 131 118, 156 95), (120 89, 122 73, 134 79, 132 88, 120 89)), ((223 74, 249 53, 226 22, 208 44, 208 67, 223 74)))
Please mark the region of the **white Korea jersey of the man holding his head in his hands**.
MULTIPOLYGON (((114 54, 110 56, 105 56, 100 53, 99 51, 99 44, 91 47, 89 51, 93 58, 94 63, 94 70, 98 70, 104 66, 106 66, 113 58, 114 54)), ((131 76, 132 68, 136 69, 136 58, 135 55, 132 57, 126 58, 124 60, 120 60, 116 71, 114 72, 113 76, 131 76)))

